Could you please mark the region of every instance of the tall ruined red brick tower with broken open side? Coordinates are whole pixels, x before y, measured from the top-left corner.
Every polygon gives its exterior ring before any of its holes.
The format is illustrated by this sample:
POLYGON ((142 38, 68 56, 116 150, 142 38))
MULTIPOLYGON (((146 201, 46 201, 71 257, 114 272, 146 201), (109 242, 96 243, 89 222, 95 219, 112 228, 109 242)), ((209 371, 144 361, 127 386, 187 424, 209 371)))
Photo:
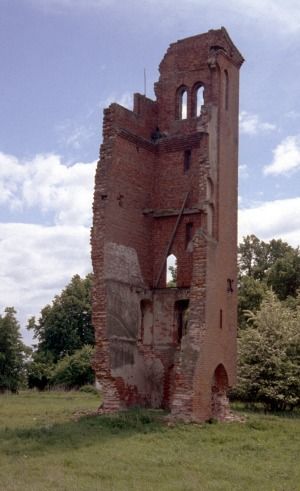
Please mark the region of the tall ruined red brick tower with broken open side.
POLYGON ((102 411, 224 419, 236 372, 239 68, 224 28, 171 44, 156 100, 104 111, 94 193, 102 411), (168 287, 167 258, 177 259, 168 287))

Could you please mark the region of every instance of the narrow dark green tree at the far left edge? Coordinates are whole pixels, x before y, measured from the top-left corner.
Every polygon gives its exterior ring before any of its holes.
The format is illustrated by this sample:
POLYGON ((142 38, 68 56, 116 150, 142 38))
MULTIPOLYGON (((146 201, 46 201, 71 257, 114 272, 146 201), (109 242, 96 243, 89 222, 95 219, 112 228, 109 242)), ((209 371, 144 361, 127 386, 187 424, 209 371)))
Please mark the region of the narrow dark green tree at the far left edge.
POLYGON ((13 307, 0 316, 0 392, 17 392, 24 383, 28 348, 21 341, 20 325, 13 307))

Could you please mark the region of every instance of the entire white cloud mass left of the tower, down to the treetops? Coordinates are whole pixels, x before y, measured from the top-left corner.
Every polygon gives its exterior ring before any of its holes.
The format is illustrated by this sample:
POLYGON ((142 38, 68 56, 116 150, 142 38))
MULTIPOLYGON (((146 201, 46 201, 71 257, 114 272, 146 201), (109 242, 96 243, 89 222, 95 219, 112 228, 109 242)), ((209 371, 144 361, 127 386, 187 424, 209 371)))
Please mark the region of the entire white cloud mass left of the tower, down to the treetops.
POLYGON ((78 273, 91 270, 90 225, 96 162, 67 165, 58 155, 30 160, 0 153, 0 309, 13 305, 24 326, 78 273), (28 222, 30 219, 35 223, 28 222), (47 214, 48 226, 40 225, 47 214))

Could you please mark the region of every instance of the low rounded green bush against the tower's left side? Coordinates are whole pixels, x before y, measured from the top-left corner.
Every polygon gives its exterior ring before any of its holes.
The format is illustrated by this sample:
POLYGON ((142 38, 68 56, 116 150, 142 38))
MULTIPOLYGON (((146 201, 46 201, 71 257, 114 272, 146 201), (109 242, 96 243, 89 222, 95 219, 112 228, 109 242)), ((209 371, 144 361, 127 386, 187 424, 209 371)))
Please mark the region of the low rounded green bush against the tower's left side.
POLYGON ((83 346, 73 355, 66 355, 53 370, 53 385, 77 389, 82 385, 93 384, 95 381, 95 374, 91 368, 93 353, 94 349, 91 346, 83 346))

